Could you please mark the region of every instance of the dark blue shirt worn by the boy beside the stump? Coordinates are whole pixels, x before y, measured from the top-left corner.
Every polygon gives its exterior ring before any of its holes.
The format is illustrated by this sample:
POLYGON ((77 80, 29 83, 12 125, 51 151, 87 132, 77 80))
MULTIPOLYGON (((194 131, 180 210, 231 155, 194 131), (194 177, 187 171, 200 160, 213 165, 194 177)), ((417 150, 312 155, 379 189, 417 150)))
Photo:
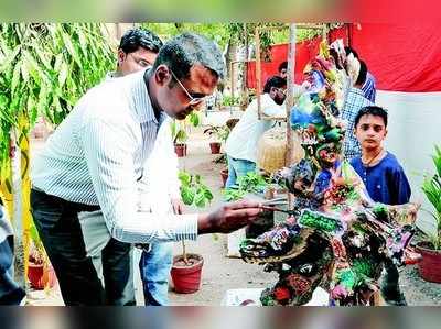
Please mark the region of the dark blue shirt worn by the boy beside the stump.
POLYGON ((361 156, 354 157, 351 165, 362 177, 374 201, 386 205, 409 202, 410 185, 394 154, 387 152, 387 155, 372 167, 365 167, 361 156))

